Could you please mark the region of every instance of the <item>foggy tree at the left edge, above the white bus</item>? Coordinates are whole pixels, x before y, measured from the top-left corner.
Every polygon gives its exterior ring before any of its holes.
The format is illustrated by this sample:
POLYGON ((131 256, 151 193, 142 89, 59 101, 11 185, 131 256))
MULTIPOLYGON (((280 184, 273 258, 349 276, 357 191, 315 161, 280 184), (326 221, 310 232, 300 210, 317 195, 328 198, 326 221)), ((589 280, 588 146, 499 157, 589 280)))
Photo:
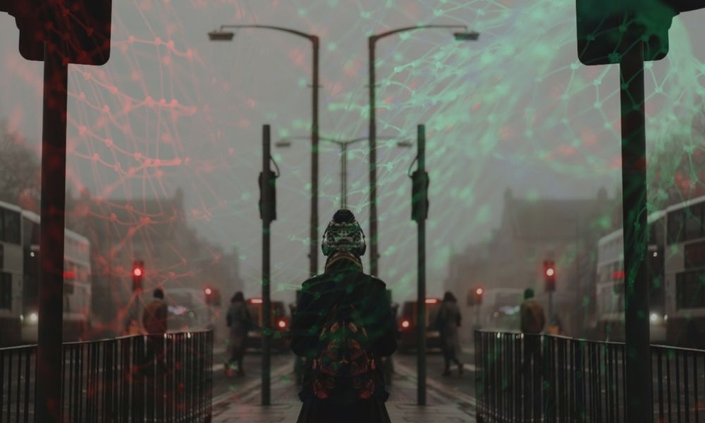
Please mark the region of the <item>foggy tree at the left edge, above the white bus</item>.
POLYGON ((0 201, 39 209, 39 154, 0 121, 0 201))

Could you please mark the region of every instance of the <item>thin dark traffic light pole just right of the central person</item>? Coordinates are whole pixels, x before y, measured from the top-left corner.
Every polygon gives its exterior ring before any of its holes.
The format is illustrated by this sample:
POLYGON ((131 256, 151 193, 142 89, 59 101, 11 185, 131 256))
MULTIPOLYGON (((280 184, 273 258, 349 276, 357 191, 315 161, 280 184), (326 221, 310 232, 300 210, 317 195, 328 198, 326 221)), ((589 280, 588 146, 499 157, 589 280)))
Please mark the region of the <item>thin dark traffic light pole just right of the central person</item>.
MULTIPOLYGON (((418 148, 418 169, 423 173, 426 171, 426 131, 424 125, 419 125, 417 129, 417 148, 418 148)), ((426 199, 428 192, 425 184, 421 185, 419 196, 421 199, 426 199)), ((421 199, 417 199, 421 200, 421 199)), ((418 202, 417 202, 418 204, 418 202)), ((420 207, 426 207, 426 202, 423 201, 420 207)), ((418 288, 416 304, 419 307, 419 317, 416 325, 416 341, 417 341, 417 403, 418 405, 426 405, 426 215, 418 214, 418 288)))

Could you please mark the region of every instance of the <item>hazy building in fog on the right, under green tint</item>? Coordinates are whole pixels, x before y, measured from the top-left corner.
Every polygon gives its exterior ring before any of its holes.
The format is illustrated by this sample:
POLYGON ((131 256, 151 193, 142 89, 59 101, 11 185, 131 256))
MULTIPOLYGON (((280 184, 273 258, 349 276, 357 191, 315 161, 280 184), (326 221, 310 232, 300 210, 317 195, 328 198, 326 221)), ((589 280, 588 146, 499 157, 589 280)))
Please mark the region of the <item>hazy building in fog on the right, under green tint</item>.
MULTIPOLYGON (((463 299, 476 286, 531 287, 547 308, 543 263, 552 259, 556 264, 553 312, 565 329, 580 335, 594 319, 597 240, 611 231, 620 214, 604 189, 594 198, 577 200, 520 199, 507 190, 500 225, 490 240, 471 245, 451 259, 446 287, 463 299)), ((464 321, 472 326, 470 307, 464 302, 462 308, 464 321)), ((482 308, 483 313, 493 311, 482 308)))

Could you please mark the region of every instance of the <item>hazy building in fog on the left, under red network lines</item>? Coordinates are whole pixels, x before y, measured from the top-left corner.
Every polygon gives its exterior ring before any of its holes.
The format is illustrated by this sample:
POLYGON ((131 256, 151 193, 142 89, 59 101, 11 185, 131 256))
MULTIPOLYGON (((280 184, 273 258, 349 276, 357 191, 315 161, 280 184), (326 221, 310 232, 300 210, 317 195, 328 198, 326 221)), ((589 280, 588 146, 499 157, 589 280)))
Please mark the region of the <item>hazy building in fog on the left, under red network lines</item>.
POLYGON ((188 226, 183 192, 171 198, 114 200, 80 196, 67 223, 89 238, 94 326, 99 333, 120 333, 140 298, 133 293, 133 261, 145 262, 143 290, 206 287, 219 290, 227 307, 242 288, 238 254, 223 252, 188 226))

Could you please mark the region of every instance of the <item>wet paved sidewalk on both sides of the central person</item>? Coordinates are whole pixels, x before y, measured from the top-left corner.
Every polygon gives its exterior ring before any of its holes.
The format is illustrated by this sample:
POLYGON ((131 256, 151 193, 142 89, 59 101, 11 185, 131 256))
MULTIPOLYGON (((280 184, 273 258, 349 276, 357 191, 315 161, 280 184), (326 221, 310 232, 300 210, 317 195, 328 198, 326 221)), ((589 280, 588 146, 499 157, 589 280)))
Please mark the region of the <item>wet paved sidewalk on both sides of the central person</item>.
MULTIPOLYGON (((416 381, 407 369, 399 369, 395 374, 391 396, 387 401, 387 411, 391 421, 415 422, 474 422, 474 400, 469 396, 455 396, 442 386, 427 386, 426 406, 415 405, 416 381)), ((278 423, 296 422, 301 403, 298 388, 291 375, 286 372, 272 374, 271 403, 259 405, 259 386, 253 386, 247 393, 233 393, 214 400, 214 423, 278 423)))

